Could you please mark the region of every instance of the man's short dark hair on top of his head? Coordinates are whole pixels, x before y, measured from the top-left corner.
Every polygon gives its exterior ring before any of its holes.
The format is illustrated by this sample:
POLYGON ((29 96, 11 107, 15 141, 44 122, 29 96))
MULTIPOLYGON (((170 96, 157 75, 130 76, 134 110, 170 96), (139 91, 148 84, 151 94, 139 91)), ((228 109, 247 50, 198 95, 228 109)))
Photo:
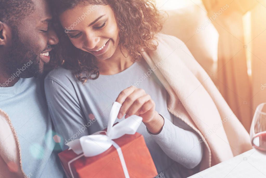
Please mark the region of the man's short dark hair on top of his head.
POLYGON ((33 13, 34 9, 32 0, 0 0, 0 21, 13 26, 33 13))

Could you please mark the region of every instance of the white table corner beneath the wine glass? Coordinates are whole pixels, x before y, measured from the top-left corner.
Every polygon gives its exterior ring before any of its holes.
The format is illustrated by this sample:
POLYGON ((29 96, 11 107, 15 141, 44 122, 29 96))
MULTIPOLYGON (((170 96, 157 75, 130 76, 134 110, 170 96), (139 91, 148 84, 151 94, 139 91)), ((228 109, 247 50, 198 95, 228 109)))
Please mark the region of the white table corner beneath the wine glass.
POLYGON ((266 177, 266 155, 251 149, 227 161, 205 169, 189 178, 264 178, 266 177))

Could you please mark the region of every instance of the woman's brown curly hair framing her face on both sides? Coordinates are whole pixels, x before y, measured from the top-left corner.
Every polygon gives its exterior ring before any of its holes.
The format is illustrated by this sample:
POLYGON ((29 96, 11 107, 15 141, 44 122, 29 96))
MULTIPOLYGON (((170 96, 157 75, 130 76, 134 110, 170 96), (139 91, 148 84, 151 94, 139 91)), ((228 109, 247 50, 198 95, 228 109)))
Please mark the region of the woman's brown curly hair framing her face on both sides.
MULTIPOLYGON (((118 24, 119 46, 120 48, 123 46, 134 61, 141 59, 141 50, 157 49, 157 44, 152 43, 152 40, 161 31, 163 18, 151 0, 52 1, 56 17, 77 5, 110 5, 118 24)), ((64 68, 72 70, 76 78, 82 83, 85 83, 88 79, 97 79, 99 68, 97 67, 96 58, 89 52, 74 47, 66 33, 64 33, 62 26, 59 25, 57 29, 59 35, 62 36, 55 48, 56 60, 51 62, 53 66, 62 65, 64 68)))

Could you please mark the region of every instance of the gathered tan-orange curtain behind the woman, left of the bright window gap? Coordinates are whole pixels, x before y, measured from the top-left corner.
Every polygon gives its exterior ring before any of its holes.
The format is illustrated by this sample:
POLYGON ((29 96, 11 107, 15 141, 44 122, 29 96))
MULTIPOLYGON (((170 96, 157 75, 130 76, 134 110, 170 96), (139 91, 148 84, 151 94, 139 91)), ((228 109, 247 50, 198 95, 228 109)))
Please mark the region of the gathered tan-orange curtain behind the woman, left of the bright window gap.
POLYGON ((218 71, 215 80, 219 82, 219 90, 234 114, 249 131, 253 101, 243 15, 255 6, 255 2, 203 0, 203 4, 210 15, 217 16, 213 22, 219 33, 218 71))

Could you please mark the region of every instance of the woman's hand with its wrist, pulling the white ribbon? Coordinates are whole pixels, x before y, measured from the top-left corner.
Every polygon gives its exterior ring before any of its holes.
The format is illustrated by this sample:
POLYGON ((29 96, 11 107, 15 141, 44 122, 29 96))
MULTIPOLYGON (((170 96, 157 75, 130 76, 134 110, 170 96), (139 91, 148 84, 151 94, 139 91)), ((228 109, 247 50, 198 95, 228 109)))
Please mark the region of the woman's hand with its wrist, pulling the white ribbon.
POLYGON ((155 111, 155 102, 143 89, 128 87, 120 92, 115 101, 122 104, 118 119, 124 114, 125 118, 137 115, 142 117, 142 122, 152 134, 160 133, 162 130, 164 119, 155 111))

